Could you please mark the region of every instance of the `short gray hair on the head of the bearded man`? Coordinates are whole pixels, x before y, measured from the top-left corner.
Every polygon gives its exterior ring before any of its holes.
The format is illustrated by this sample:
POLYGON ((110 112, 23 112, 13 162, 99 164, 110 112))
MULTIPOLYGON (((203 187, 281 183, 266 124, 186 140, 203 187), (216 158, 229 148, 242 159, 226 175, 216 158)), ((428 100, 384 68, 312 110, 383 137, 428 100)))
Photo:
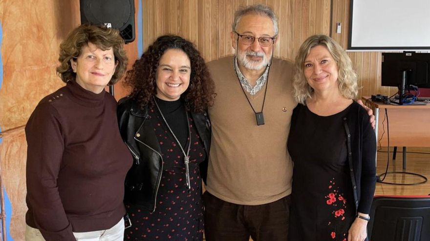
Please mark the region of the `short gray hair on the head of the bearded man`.
POLYGON ((278 35, 278 18, 273 10, 266 5, 263 4, 255 4, 250 6, 240 6, 239 9, 235 12, 235 19, 232 24, 232 31, 236 31, 237 23, 239 23, 240 19, 248 14, 257 14, 261 16, 266 16, 273 22, 273 28, 275 30, 275 36, 278 35))

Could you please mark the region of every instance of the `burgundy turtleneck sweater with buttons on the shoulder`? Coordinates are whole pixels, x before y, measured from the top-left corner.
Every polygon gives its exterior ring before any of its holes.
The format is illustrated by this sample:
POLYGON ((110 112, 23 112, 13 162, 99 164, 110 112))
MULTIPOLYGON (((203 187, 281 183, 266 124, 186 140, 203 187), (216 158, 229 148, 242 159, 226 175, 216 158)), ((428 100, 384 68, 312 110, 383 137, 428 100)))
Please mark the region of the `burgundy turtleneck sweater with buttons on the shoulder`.
POLYGON ((112 227, 125 214, 132 158, 121 139, 116 101, 74 81, 41 100, 27 138, 26 223, 46 241, 112 227))

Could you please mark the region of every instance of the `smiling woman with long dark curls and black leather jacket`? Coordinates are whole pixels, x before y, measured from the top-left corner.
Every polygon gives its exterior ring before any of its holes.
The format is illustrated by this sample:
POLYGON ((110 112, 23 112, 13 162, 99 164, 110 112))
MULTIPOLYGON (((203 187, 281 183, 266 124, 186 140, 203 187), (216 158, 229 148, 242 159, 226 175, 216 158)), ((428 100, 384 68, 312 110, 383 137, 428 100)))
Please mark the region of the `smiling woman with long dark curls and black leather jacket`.
POLYGON ((214 83, 188 40, 161 36, 127 73, 118 122, 134 163, 126 177, 125 240, 203 240, 214 83))

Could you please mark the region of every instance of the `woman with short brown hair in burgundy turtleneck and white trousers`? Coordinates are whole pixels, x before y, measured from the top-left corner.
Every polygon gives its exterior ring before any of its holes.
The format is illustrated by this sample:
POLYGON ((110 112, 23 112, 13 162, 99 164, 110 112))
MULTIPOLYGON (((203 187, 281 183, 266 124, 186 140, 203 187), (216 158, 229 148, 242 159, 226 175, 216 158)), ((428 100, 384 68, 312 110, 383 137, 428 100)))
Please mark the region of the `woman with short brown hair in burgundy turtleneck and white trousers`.
POLYGON ((131 156, 117 103, 105 91, 127 66, 118 30, 81 25, 60 45, 66 86, 44 97, 25 127, 26 241, 122 241, 131 156))

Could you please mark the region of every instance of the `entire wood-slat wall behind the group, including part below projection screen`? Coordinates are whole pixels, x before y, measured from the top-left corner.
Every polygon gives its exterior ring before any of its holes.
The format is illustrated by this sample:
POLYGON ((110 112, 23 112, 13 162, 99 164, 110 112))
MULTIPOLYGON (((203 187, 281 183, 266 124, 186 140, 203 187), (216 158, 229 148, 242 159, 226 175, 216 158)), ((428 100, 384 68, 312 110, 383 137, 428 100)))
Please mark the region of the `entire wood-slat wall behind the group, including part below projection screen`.
MULTIPOLYGON (((279 16, 280 33, 274 51, 277 57, 294 60, 301 43, 313 34, 331 34, 347 47, 350 0, 146 0, 144 46, 160 34, 171 33, 193 41, 206 61, 232 55, 233 14, 240 5, 254 3, 271 6, 279 16), (336 33, 337 22, 342 23, 340 34, 336 33)), ((381 86, 381 52, 348 55, 359 75, 359 97, 397 91, 395 87, 381 86)))

